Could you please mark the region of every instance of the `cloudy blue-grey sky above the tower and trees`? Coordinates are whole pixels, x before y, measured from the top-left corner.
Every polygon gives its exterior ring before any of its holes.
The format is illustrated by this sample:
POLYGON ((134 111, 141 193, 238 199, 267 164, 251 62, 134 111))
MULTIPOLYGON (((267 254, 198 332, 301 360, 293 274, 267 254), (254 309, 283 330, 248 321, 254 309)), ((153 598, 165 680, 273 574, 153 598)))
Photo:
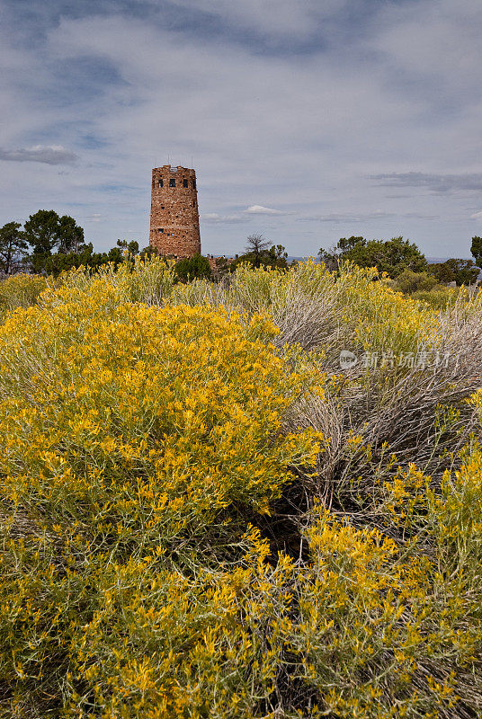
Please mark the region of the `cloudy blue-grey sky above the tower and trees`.
POLYGON ((204 253, 482 235, 480 0, 3 0, 0 224, 147 244, 151 168, 193 166, 204 253))

